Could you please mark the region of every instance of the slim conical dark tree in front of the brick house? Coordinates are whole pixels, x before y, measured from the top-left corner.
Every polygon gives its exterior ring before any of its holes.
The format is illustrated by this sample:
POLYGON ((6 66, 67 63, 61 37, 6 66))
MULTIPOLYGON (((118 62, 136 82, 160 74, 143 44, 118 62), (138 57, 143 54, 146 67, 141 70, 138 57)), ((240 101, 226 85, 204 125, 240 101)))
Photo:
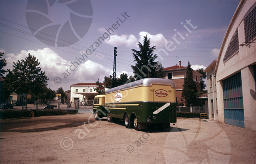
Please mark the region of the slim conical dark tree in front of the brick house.
POLYGON ((191 68, 190 62, 188 62, 182 89, 182 98, 184 98, 186 106, 193 104, 193 102, 196 100, 196 94, 198 90, 193 79, 193 70, 191 68))

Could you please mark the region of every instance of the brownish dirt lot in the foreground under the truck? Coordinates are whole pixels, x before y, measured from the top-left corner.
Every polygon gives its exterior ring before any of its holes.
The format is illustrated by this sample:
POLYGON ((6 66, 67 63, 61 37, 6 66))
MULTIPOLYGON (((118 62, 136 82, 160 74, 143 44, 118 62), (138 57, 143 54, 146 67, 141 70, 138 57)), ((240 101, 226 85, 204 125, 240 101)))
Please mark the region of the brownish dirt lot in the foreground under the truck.
POLYGON ((256 132, 210 120, 135 131, 93 114, 0 120, 0 163, 256 163, 256 132))

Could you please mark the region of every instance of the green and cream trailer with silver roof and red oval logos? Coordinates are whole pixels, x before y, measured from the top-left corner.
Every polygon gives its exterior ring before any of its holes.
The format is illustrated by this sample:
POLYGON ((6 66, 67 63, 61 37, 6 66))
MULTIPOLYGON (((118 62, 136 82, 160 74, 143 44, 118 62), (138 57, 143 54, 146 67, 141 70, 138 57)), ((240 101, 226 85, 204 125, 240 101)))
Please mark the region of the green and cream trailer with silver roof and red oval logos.
POLYGON ((145 78, 108 89, 103 112, 108 122, 124 120, 126 128, 170 128, 170 123, 177 121, 175 84, 168 79, 145 78))

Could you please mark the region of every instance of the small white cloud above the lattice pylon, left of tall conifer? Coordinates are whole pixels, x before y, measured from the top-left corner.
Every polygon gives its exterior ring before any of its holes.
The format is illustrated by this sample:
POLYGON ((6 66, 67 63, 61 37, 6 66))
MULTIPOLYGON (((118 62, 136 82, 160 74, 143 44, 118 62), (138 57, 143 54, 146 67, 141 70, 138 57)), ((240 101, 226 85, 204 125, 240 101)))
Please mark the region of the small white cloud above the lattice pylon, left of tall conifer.
POLYGON ((137 39, 134 35, 111 35, 109 40, 105 40, 105 43, 113 46, 126 45, 134 46, 137 43, 137 39))

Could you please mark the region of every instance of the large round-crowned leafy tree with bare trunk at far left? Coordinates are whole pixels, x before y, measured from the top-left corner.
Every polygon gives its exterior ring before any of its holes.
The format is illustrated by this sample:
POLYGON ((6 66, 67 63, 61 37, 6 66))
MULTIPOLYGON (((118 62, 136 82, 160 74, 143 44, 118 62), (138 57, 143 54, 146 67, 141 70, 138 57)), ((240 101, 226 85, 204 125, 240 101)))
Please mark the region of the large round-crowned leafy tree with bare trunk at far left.
MULTIPOLYGON (((21 60, 14 63, 12 82, 14 85, 15 93, 26 94, 26 101, 28 94, 42 93, 42 87, 47 85, 47 76, 45 72, 41 71, 39 67, 40 62, 36 57, 28 53, 28 57, 25 60, 21 60)), ((27 105, 26 105, 27 109, 27 105)))

